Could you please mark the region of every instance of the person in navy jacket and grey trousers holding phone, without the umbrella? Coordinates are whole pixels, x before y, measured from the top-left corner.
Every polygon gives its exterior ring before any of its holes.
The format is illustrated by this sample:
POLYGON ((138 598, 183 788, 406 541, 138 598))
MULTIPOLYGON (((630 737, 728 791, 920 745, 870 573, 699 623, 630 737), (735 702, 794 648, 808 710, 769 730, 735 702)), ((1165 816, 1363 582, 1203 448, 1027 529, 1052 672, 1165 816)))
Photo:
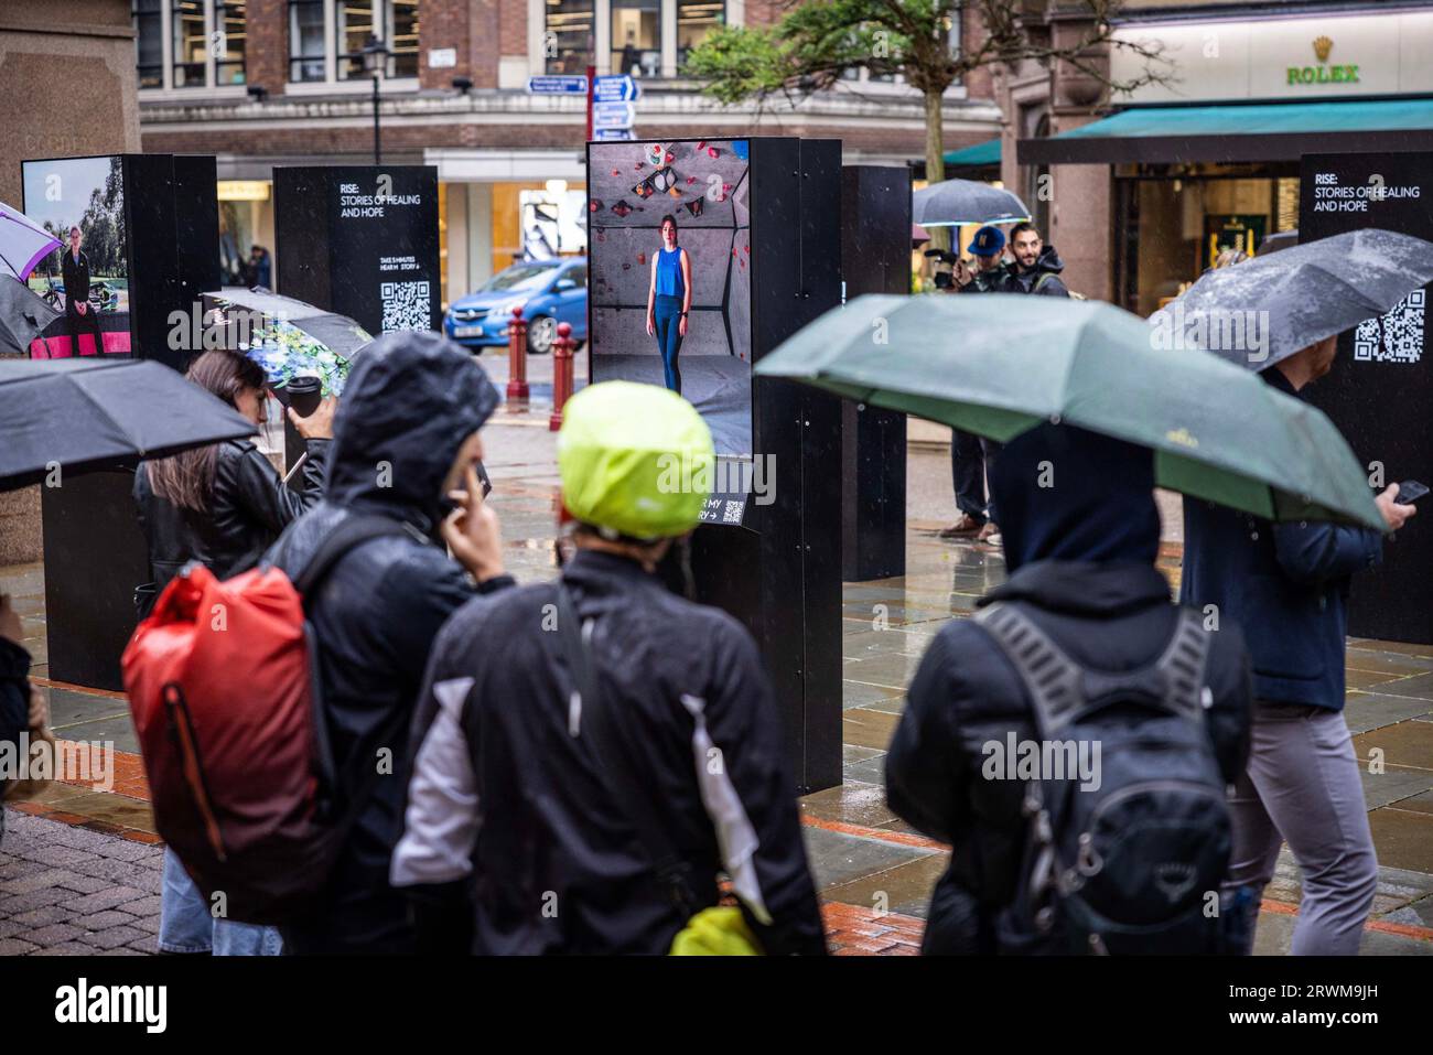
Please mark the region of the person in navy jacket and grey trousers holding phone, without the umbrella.
MULTIPOLYGON (((1333 367, 1337 334, 1260 373, 1285 396, 1333 367)), ((1377 496, 1389 532, 1417 510, 1377 496)), ((1250 761, 1230 800, 1234 847, 1225 897, 1254 919, 1278 850, 1303 873, 1294 955, 1353 956, 1379 884, 1369 807, 1344 721, 1348 585, 1383 560, 1383 536, 1333 523, 1271 523, 1184 500, 1181 601, 1244 631, 1254 667, 1250 761)))

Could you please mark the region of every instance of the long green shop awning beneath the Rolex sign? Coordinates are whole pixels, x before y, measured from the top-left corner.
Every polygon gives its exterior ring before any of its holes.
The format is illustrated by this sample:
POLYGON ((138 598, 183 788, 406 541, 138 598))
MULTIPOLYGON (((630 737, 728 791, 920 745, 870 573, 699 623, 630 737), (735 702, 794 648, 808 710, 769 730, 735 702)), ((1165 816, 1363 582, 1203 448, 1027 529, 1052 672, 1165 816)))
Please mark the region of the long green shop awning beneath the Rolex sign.
POLYGON ((1022 139, 1020 165, 1298 161, 1336 151, 1433 149, 1433 99, 1141 106, 1048 139, 1022 139))

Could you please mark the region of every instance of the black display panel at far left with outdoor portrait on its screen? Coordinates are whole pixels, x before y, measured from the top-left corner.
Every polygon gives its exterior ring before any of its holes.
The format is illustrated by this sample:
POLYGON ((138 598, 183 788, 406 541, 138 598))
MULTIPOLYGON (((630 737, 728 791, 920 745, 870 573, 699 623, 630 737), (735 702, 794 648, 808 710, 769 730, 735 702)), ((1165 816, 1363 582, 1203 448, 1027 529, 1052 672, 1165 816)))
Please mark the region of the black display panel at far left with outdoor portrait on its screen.
MULTIPOLYGON (((33 357, 106 355, 153 358, 176 370, 195 348, 188 325, 198 291, 218 267, 214 158, 126 153, 56 158, 21 165, 24 208, 67 242, 80 228, 89 262, 89 304, 100 343, 63 314, 33 357)), ((32 277, 40 291, 83 281, 64 252, 32 277)), ((135 629, 135 588, 149 581, 149 560, 132 497, 132 467, 82 476, 60 469, 59 486, 43 486, 44 602, 49 675, 120 689, 119 657, 135 629)))

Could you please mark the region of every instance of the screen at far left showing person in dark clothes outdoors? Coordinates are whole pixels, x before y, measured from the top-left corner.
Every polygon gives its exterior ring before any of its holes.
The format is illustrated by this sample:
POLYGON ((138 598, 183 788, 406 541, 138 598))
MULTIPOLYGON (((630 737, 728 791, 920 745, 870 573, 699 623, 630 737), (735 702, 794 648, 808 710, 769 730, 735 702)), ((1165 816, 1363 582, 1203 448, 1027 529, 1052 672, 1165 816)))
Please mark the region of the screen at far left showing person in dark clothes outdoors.
POLYGON ((119 156, 59 158, 21 165, 24 214, 60 248, 36 262, 32 358, 130 355, 129 241, 119 156))

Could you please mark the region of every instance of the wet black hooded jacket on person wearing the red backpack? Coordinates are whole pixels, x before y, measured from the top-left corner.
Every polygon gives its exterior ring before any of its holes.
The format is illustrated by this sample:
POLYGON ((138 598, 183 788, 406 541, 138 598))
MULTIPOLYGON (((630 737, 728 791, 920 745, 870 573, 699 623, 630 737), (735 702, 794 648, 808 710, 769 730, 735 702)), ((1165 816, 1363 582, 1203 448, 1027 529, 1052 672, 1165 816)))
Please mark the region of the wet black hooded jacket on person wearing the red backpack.
MULTIPOLYGON (((318 641, 322 710, 341 798, 374 790, 335 866, 327 910, 285 929, 298 953, 406 953, 407 906, 388 887, 388 859, 403 808, 403 761, 413 707, 438 628, 477 586, 436 540, 443 482, 459 447, 497 406, 483 368, 437 334, 380 337, 358 357, 344 388, 324 500, 268 553, 295 578, 347 517, 378 515, 403 532, 357 545, 338 559, 305 609, 318 641)), ((494 589, 512 579, 484 583, 494 589)))

